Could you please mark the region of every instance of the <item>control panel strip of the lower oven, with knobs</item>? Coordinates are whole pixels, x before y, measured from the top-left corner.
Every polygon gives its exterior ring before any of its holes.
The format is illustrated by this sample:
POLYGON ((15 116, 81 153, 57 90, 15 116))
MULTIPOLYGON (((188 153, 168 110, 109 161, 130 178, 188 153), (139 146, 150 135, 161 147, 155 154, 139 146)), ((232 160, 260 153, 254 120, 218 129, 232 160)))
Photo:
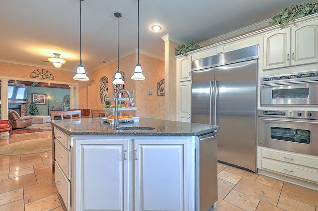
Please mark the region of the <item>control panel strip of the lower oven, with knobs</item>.
POLYGON ((258 110, 257 115, 263 117, 318 119, 318 111, 304 110, 258 110))

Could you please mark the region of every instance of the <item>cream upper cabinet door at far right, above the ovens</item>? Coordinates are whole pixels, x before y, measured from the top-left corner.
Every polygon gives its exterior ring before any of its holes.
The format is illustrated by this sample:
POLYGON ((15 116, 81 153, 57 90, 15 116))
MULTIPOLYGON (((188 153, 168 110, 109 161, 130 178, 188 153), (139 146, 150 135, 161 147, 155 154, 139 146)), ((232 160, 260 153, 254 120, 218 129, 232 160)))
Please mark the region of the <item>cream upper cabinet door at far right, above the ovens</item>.
POLYGON ((292 27, 291 64, 318 62, 318 21, 304 27, 292 27))

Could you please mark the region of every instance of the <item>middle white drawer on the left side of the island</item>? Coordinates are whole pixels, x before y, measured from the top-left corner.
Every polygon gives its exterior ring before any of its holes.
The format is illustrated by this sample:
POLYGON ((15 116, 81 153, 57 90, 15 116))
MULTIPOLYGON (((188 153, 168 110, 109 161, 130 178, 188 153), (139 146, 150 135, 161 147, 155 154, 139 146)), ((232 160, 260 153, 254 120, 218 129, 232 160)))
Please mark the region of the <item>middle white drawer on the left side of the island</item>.
POLYGON ((68 179, 71 179, 71 152, 62 147, 59 141, 55 142, 55 160, 68 179))

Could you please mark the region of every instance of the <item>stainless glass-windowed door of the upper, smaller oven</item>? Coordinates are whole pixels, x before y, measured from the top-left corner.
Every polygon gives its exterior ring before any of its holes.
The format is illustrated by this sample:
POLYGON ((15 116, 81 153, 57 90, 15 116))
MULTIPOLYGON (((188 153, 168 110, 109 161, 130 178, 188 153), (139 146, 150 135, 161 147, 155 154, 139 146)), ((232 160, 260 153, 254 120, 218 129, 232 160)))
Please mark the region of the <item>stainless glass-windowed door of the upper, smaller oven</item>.
POLYGON ((318 105, 318 82, 262 85, 261 105, 318 105))

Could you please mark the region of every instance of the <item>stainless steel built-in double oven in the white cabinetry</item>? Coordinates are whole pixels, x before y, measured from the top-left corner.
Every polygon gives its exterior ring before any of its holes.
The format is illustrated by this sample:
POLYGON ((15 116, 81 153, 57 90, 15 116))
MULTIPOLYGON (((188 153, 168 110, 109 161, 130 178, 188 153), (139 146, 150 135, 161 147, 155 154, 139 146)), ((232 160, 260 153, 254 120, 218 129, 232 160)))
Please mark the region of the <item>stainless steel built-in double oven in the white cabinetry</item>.
POLYGON ((262 77, 260 89, 272 108, 257 111, 258 146, 318 156, 318 71, 262 77))

